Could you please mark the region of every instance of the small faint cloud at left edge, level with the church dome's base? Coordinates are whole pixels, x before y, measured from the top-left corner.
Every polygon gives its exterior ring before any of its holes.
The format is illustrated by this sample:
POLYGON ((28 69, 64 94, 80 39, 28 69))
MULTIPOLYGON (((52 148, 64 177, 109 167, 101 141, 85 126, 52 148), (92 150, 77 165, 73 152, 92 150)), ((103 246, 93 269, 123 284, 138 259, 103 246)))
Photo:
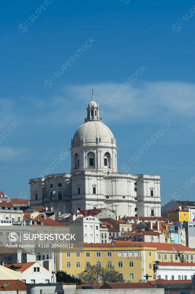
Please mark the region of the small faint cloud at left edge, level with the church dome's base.
POLYGON ((13 148, 13 147, 0 147, 0 161, 13 161, 21 159, 29 151, 29 148, 13 148))

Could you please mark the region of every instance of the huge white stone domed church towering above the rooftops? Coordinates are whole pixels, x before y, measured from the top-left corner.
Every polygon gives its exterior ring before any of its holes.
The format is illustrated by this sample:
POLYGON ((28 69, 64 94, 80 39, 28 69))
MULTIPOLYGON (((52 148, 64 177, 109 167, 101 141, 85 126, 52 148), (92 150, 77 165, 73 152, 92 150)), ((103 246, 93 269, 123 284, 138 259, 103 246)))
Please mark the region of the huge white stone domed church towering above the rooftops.
POLYGON ((87 118, 71 140, 71 173, 30 179, 30 204, 44 203, 62 213, 109 208, 116 216, 161 216, 160 176, 117 171, 116 139, 87 104, 87 118))

